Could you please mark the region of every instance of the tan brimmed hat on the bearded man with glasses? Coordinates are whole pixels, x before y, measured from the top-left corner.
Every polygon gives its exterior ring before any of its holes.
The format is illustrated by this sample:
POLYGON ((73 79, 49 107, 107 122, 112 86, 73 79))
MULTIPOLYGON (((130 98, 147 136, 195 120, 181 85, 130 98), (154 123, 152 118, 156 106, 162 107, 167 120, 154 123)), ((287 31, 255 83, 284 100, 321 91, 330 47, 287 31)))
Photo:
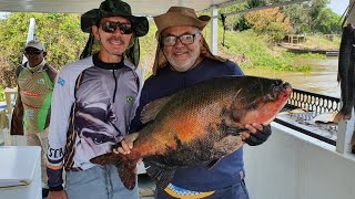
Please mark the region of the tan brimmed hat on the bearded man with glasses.
POLYGON ((166 13, 153 17, 158 31, 156 36, 170 27, 191 25, 203 30, 211 18, 209 15, 200 15, 197 18, 195 10, 186 7, 171 7, 166 13))

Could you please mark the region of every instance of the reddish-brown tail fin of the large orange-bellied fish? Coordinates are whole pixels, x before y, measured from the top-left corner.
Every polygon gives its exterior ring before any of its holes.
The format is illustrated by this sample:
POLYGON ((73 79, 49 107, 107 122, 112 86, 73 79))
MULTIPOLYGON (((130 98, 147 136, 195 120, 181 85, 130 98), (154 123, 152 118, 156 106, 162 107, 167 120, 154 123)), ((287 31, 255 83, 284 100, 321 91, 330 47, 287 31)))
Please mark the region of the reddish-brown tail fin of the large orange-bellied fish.
POLYGON ((109 153, 90 159, 98 165, 113 165, 116 167, 124 187, 132 190, 136 181, 136 160, 129 159, 125 155, 109 153))

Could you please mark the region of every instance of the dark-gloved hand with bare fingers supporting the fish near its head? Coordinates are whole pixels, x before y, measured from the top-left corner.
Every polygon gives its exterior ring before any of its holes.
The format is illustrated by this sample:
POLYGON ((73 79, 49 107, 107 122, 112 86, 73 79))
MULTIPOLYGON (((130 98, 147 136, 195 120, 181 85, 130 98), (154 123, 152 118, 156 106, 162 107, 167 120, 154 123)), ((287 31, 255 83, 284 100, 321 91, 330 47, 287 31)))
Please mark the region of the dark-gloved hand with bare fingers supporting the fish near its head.
POLYGON ((242 133, 242 139, 248 144, 250 146, 257 146, 263 144, 271 135, 271 126, 263 126, 261 124, 253 123, 252 125, 245 125, 245 128, 248 129, 250 133, 242 133))

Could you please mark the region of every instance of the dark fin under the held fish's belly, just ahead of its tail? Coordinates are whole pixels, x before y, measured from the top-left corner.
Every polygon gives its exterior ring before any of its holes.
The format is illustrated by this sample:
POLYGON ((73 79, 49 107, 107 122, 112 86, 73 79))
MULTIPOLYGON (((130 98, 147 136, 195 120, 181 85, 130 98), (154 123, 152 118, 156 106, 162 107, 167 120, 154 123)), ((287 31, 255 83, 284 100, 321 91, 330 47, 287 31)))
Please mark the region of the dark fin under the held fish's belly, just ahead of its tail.
POLYGON ((156 182, 156 186, 161 189, 164 189, 168 187, 168 185, 173 179, 176 168, 166 169, 166 168, 160 168, 156 166, 151 166, 148 163, 144 161, 144 165, 148 167, 145 168, 146 174, 156 182))

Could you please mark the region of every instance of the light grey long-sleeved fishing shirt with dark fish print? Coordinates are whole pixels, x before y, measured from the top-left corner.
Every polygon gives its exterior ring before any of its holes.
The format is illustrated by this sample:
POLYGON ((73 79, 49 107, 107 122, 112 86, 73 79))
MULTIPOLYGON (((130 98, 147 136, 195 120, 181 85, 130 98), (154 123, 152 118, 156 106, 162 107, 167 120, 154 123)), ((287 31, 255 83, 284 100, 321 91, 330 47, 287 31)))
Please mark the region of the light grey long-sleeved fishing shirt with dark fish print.
POLYGON ((61 70, 48 137, 51 190, 62 189, 62 167, 91 168, 91 158, 110 153, 122 140, 139 103, 140 75, 131 62, 104 63, 98 54, 61 70))

